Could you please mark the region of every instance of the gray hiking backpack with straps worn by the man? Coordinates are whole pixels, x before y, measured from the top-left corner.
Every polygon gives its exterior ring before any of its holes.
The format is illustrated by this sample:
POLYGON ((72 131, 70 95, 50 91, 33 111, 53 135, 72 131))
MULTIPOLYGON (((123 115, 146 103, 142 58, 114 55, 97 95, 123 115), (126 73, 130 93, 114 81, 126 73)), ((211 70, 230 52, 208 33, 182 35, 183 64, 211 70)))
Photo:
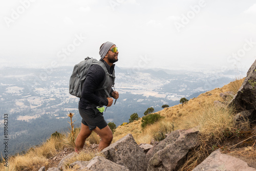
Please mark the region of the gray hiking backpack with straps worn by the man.
POLYGON ((111 77, 115 80, 115 70, 113 71, 113 74, 110 74, 103 62, 90 57, 85 58, 74 66, 73 73, 69 80, 69 93, 71 95, 81 98, 83 83, 86 79, 87 72, 89 68, 95 64, 101 66, 106 73, 102 88, 99 88, 96 91, 104 89, 105 93, 108 95, 108 97, 110 97, 108 91, 106 90, 106 86, 110 83, 111 77))

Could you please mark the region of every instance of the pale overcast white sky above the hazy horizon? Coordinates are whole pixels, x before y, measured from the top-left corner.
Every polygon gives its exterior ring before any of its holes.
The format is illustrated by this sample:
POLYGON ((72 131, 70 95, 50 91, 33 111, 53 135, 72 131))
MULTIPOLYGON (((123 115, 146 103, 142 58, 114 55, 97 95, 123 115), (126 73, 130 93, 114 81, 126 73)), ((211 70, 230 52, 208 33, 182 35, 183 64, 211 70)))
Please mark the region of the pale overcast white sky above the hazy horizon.
POLYGON ((118 67, 248 70, 256 1, 0 2, 0 67, 74 66, 112 41, 118 67))

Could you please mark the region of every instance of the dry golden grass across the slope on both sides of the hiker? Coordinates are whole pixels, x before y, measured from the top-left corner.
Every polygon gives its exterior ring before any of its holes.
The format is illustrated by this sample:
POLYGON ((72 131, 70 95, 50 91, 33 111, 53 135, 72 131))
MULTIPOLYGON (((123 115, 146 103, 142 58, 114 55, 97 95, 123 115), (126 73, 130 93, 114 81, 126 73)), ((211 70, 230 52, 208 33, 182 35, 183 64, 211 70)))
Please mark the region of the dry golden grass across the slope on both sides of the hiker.
MULTIPOLYGON (((203 93, 197 98, 190 99, 184 106, 179 104, 156 112, 164 116, 165 119, 146 126, 144 130, 141 128, 141 119, 127 125, 118 126, 112 143, 127 134, 132 134, 138 144, 150 143, 159 131, 166 133, 172 131, 173 122, 174 130, 198 126, 201 132, 199 146, 189 154, 186 164, 181 168, 181 170, 191 170, 209 155, 212 147, 221 144, 225 140, 228 132, 233 131, 232 108, 227 110, 218 108, 214 106, 214 101, 223 101, 220 97, 221 92, 233 91, 236 94, 243 81, 244 78, 235 80, 222 88, 216 88, 203 93)), ((80 129, 74 130, 75 137, 79 131, 80 129)), ((54 156, 63 146, 74 147, 74 144, 70 143, 70 139, 69 135, 58 140, 50 139, 39 147, 31 148, 25 155, 11 157, 9 160, 9 170, 33 170, 39 165, 47 165, 48 158, 54 156)), ((88 140, 90 143, 99 143, 99 137, 96 134, 92 134, 88 140)), ((255 154, 255 146, 256 144, 254 147, 251 146, 244 149, 244 151, 255 154)), ((95 157, 93 153, 81 152, 69 162, 91 160, 93 157, 95 157)), ((1 165, 0 169, 4 170, 3 168, 3 165, 1 165)))

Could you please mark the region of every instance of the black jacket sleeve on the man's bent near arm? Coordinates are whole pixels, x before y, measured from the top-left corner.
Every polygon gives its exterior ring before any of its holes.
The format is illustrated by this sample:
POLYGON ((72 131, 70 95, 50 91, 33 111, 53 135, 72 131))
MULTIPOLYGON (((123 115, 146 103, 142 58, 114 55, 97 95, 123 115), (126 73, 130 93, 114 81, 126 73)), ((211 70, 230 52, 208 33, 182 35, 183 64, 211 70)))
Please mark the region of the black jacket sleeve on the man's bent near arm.
POLYGON ((95 94, 95 90, 105 78, 105 72, 99 65, 93 65, 88 70, 86 80, 84 80, 82 89, 82 98, 96 105, 108 105, 106 98, 99 97, 95 94))

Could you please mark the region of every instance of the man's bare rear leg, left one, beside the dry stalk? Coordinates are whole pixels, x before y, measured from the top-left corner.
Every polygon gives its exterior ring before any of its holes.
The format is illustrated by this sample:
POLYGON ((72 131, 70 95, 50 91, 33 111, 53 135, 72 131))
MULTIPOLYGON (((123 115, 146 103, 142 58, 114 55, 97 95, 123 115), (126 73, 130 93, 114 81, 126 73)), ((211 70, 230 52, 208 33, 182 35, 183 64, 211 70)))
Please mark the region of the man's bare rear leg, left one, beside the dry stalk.
POLYGON ((81 130, 76 137, 76 147, 75 147, 76 152, 79 153, 82 150, 83 145, 86 142, 86 139, 91 135, 91 133, 92 131, 89 130, 89 126, 81 123, 81 130))

